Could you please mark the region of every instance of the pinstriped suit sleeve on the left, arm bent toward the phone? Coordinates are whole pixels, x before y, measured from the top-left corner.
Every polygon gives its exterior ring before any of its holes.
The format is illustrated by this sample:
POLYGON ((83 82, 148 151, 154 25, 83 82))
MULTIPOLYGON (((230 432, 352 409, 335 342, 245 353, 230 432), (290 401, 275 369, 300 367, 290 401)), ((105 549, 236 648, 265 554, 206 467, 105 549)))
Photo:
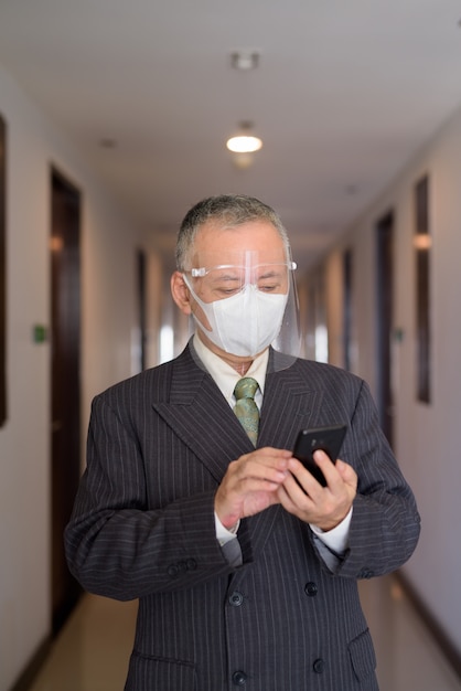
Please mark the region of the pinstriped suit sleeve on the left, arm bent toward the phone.
POLYGON ((65 531, 71 572, 92 593, 132 599, 233 571, 216 540, 215 489, 149 510, 144 461, 139 430, 96 397, 87 468, 65 531))

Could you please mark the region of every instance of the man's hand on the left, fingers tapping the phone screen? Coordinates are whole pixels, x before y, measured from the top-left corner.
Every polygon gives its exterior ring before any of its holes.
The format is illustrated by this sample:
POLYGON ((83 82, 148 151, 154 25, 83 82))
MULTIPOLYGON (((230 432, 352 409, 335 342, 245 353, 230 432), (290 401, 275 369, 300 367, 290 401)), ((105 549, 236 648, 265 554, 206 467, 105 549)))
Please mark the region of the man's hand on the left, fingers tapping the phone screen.
POLYGON ((266 447, 229 464, 215 496, 215 512, 225 528, 280 502, 290 458, 291 451, 266 447))

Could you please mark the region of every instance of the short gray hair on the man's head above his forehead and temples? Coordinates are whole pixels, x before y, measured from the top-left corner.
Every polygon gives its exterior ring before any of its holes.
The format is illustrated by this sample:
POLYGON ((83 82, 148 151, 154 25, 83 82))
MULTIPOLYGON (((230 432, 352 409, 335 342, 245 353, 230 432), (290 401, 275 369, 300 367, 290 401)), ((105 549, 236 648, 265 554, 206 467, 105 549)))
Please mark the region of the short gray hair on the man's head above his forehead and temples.
POLYGON ((184 272, 190 262, 199 230, 211 220, 222 222, 221 227, 236 227, 249 221, 268 221, 278 231, 290 256, 290 243, 280 216, 267 204, 244 194, 219 194, 202 200, 190 209, 181 223, 176 241, 176 268, 184 272))

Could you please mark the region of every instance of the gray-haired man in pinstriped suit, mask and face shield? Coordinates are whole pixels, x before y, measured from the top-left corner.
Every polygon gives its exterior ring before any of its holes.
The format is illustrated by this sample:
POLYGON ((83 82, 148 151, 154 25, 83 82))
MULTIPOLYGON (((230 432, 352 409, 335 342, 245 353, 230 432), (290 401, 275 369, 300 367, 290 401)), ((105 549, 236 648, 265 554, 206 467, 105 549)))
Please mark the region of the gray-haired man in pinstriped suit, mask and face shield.
POLYGON ((126 690, 376 690, 357 580, 411 555, 419 517, 368 387, 293 357, 294 264, 266 204, 200 202, 176 263, 195 334, 95 398, 65 536, 85 588, 139 598, 126 690), (292 448, 337 423, 323 487, 292 448))

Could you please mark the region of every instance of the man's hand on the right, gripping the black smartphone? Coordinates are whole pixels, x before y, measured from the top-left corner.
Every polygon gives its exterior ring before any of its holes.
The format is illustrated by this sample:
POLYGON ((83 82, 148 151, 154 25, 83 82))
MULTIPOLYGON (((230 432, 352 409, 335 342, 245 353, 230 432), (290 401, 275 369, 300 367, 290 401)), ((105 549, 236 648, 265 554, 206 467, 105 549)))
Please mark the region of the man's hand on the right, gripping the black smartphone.
POLYGON ((324 451, 315 451, 314 460, 325 477, 326 487, 322 487, 298 459, 290 458, 290 472, 277 493, 287 511, 329 531, 347 515, 357 491, 357 475, 343 460, 332 464, 324 451))

